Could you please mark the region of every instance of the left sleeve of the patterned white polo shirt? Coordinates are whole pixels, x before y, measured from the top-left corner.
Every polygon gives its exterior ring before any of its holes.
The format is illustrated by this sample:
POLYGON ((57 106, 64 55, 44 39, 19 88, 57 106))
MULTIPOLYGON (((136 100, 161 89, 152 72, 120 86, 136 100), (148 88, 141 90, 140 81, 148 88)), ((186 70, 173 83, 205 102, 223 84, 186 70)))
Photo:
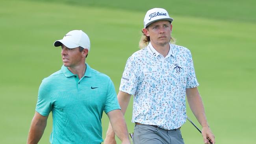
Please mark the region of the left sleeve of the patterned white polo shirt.
POLYGON ((133 57, 126 61, 119 90, 128 94, 135 94, 138 85, 137 66, 133 57))

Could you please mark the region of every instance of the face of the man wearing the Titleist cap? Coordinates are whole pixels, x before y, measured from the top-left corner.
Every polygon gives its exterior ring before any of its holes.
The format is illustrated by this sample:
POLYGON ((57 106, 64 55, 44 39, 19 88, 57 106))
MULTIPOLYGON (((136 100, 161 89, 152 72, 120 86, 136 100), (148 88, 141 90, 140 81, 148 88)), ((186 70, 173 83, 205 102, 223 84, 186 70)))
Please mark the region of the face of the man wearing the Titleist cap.
POLYGON ((167 20, 153 22, 147 29, 143 29, 145 35, 150 37, 153 45, 165 46, 171 40, 172 25, 167 20))

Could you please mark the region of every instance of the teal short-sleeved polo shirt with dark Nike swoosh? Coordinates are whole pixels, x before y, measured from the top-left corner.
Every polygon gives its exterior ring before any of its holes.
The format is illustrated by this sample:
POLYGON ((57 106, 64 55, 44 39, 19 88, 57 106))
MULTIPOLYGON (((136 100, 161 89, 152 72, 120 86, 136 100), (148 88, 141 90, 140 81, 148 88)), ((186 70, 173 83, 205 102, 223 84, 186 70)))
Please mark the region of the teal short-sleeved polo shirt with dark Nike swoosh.
POLYGON ((43 116, 52 111, 51 144, 100 144, 103 111, 120 109, 111 79, 86 67, 79 79, 62 66, 39 87, 36 111, 43 116))

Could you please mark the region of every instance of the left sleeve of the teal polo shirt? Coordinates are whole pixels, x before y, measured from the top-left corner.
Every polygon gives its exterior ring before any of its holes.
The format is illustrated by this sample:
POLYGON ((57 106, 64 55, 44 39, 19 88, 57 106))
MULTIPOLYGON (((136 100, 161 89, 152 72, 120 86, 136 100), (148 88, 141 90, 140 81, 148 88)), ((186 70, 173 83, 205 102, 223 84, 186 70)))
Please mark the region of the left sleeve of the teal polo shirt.
POLYGON ((51 110, 52 104, 50 92, 49 89, 47 89, 45 81, 43 80, 38 90, 38 98, 35 111, 43 116, 47 116, 51 110))

